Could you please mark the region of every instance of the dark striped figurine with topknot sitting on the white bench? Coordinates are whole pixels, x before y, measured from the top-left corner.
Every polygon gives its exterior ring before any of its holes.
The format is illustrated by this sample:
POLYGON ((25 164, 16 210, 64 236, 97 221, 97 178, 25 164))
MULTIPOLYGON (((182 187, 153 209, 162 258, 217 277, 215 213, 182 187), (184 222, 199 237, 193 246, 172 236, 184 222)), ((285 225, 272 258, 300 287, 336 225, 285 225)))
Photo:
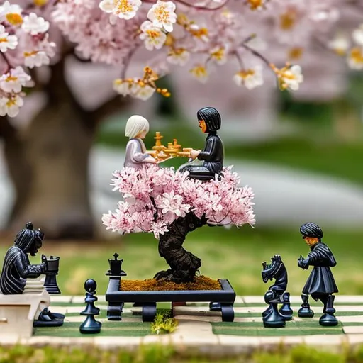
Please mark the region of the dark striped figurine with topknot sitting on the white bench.
MULTIPOLYGON (((0 275, 0 294, 35 294, 43 292, 43 281, 37 279, 48 271, 47 257, 42 255, 40 264, 30 264, 28 254, 35 256, 43 245, 44 233, 33 230, 32 223, 26 223, 26 228, 18 232, 13 247, 10 247, 4 257, 4 264, 0 275)), ((33 326, 60 326, 65 315, 51 313, 48 310, 50 297, 45 291, 46 298, 40 303, 33 326)))

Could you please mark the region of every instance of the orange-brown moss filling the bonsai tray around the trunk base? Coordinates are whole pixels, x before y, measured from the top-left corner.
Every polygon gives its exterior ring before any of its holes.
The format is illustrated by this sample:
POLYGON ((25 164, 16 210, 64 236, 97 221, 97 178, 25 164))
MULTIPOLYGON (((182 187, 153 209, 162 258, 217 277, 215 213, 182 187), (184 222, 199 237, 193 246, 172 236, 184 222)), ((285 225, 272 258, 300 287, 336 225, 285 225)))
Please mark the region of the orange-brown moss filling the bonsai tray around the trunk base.
POLYGON ((193 282, 176 284, 166 279, 122 280, 122 291, 173 291, 173 290, 220 290, 218 280, 205 276, 194 278, 193 282))

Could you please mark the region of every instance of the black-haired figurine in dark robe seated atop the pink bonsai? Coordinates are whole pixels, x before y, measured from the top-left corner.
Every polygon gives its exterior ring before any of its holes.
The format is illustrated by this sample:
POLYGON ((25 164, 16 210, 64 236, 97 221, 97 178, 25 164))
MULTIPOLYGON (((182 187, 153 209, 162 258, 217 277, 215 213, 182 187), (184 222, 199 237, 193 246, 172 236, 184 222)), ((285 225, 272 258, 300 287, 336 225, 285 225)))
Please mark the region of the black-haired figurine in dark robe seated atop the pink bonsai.
POLYGON ((191 150, 191 159, 203 160, 203 165, 186 164, 180 167, 179 172, 189 172, 189 177, 200 180, 210 180, 223 169, 223 143, 217 135, 220 129, 220 114, 213 107, 204 107, 197 112, 199 128, 208 133, 204 150, 191 150))

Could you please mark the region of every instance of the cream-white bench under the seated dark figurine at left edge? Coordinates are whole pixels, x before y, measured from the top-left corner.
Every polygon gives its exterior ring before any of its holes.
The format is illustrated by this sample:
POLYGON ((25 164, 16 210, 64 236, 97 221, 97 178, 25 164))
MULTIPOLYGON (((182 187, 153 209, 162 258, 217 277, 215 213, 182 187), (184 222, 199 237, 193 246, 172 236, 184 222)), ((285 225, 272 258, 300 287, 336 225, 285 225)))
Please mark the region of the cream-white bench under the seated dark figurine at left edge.
POLYGON ((44 289, 35 294, 3 295, 0 293, 0 343, 1 337, 31 337, 33 321, 40 303, 50 297, 44 289))

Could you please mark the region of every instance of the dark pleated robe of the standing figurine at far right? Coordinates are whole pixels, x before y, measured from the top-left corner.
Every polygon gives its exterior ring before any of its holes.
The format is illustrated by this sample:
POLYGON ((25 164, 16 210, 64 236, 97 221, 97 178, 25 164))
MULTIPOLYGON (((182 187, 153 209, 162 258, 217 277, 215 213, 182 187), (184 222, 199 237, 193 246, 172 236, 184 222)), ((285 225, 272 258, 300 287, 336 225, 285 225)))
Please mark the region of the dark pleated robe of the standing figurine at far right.
POLYGON ((308 265, 313 266, 308 281, 303 288, 303 294, 333 294, 338 292, 337 285, 330 267, 334 267, 337 262, 329 247, 323 242, 318 242, 311 247, 308 254, 308 265))

